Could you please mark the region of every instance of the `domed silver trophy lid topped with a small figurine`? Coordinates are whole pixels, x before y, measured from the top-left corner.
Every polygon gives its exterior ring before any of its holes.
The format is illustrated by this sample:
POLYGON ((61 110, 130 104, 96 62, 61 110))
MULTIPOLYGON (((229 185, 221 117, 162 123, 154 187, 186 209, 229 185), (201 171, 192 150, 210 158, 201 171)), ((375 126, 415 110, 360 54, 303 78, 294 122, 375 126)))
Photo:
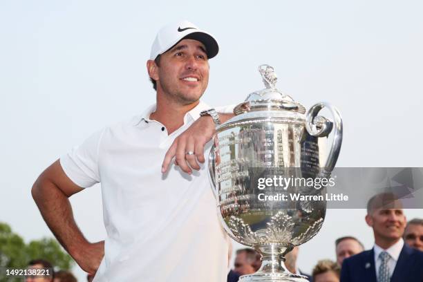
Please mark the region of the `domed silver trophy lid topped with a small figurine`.
POLYGON ((250 93, 247 99, 245 99, 245 102, 235 107, 235 115, 241 115, 252 111, 291 111, 306 113, 306 108, 304 108, 303 105, 295 102, 290 95, 276 88, 277 77, 272 66, 263 64, 259 66, 259 72, 263 78, 265 88, 250 93))

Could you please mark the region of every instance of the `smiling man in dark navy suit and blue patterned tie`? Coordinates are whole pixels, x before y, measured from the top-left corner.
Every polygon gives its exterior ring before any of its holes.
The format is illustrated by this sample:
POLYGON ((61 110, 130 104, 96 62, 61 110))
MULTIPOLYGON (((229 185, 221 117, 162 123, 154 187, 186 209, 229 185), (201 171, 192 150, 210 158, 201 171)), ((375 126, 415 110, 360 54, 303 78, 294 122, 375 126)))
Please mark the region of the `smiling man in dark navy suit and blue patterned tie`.
POLYGON ((366 223, 375 246, 344 260, 341 282, 422 282, 423 252, 404 244, 406 217, 393 194, 377 194, 367 204, 366 223))

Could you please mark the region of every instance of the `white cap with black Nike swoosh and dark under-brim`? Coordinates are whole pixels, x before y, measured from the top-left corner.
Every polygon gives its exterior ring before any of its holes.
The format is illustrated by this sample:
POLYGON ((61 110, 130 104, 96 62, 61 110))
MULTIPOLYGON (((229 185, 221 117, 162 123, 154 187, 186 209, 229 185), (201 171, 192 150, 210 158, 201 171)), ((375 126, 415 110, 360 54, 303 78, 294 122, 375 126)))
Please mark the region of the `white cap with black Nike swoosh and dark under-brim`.
POLYGON ((171 23, 159 30, 151 46, 150 59, 156 59, 158 55, 165 53, 182 39, 195 39, 203 43, 209 59, 216 56, 219 51, 216 39, 209 32, 200 30, 194 23, 184 20, 171 23))

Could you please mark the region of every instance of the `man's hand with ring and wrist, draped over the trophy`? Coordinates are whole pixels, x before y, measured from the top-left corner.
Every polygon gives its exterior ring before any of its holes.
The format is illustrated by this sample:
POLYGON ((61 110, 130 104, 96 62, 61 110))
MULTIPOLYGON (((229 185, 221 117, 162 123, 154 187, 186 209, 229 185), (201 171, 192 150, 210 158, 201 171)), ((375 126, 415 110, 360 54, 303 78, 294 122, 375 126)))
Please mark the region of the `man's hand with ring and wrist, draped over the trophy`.
MULTIPOLYGON (((233 118, 233 113, 219 113, 220 122, 226 122, 233 118)), ((209 115, 198 118, 196 122, 189 126, 189 129, 181 133, 173 141, 171 147, 164 156, 162 164, 162 173, 169 168, 173 157, 176 157, 175 164, 179 165, 182 171, 191 174, 191 169, 200 169, 198 162, 205 162, 204 146, 212 140, 216 133, 216 125, 209 115), (187 155, 187 151, 193 151, 194 155, 187 155)))

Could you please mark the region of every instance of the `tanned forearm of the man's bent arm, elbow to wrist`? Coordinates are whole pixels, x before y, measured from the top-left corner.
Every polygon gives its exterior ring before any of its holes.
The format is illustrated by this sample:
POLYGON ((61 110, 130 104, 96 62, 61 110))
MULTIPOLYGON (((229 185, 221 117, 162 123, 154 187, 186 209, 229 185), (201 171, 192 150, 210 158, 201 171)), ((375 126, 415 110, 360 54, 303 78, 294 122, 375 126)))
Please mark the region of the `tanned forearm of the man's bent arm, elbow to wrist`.
POLYGON ((50 230, 65 250, 77 259, 75 256, 79 256, 80 250, 89 243, 75 223, 68 197, 53 182, 39 179, 32 186, 31 193, 50 230))

